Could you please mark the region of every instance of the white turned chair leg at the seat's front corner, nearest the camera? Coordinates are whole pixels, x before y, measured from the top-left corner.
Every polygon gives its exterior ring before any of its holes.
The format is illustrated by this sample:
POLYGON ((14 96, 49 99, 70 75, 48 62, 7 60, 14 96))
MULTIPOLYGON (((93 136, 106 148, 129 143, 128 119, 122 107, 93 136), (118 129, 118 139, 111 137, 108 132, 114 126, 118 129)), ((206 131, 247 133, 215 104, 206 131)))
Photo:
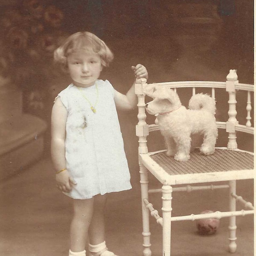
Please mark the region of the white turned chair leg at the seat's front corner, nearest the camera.
POLYGON ((162 186, 163 200, 163 256, 171 255, 172 187, 162 186))

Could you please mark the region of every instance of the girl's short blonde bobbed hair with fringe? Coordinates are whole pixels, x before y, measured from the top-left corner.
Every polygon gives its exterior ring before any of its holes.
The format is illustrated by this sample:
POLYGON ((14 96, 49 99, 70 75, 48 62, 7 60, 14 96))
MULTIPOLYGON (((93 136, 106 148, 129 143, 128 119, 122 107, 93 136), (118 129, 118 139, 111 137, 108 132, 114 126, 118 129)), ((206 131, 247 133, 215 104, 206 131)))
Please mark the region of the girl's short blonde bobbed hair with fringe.
POLYGON ((76 32, 70 35, 67 40, 54 51, 54 60, 67 67, 67 56, 78 50, 93 51, 99 54, 102 65, 108 67, 114 56, 107 45, 96 35, 90 32, 76 32))

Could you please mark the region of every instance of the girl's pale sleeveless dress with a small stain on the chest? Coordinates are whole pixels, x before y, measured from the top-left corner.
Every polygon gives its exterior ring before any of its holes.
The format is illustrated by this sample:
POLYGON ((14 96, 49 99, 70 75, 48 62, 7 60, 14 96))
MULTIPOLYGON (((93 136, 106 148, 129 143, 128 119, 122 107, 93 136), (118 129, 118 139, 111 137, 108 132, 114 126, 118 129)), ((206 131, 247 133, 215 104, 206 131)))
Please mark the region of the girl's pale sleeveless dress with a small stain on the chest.
POLYGON ((70 84, 57 96, 68 112, 67 171, 77 182, 71 192, 64 194, 75 199, 131 189, 114 89, 108 80, 97 80, 96 84, 98 93, 95 84, 79 87, 81 91, 70 84), (93 106, 97 102, 96 113, 82 94, 93 106))

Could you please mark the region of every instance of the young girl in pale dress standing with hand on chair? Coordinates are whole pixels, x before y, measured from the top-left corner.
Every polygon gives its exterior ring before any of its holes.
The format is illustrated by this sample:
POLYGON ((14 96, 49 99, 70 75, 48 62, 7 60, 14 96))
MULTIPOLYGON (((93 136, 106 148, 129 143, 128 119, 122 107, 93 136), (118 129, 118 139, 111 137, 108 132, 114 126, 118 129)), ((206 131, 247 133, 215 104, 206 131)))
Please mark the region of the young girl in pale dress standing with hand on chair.
MULTIPOLYGON (((115 256, 105 244, 104 208, 108 193, 131 189, 116 108, 136 106, 134 84, 123 95, 99 80, 113 54, 90 32, 71 35, 54 57, 73 81, 55 99, 51 143, 56 186, 73 198, 69 256, 85 256, 87 236, 89 256, 115 256)), ((148 78, 143 65, 132 69, 148 78)))

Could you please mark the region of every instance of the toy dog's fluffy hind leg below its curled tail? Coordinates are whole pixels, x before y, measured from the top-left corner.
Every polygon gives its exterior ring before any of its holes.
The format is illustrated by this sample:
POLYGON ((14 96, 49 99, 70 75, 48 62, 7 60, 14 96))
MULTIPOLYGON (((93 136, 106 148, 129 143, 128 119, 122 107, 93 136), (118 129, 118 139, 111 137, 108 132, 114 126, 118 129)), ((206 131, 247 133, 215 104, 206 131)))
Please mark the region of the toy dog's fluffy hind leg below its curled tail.
POLYGON ((214 153, 217 135, 218 135, 218 129, 215 126, 213 126, 211 130, 205 132, 204 142, 200 148, 201 153, 205 155, 214 153))

